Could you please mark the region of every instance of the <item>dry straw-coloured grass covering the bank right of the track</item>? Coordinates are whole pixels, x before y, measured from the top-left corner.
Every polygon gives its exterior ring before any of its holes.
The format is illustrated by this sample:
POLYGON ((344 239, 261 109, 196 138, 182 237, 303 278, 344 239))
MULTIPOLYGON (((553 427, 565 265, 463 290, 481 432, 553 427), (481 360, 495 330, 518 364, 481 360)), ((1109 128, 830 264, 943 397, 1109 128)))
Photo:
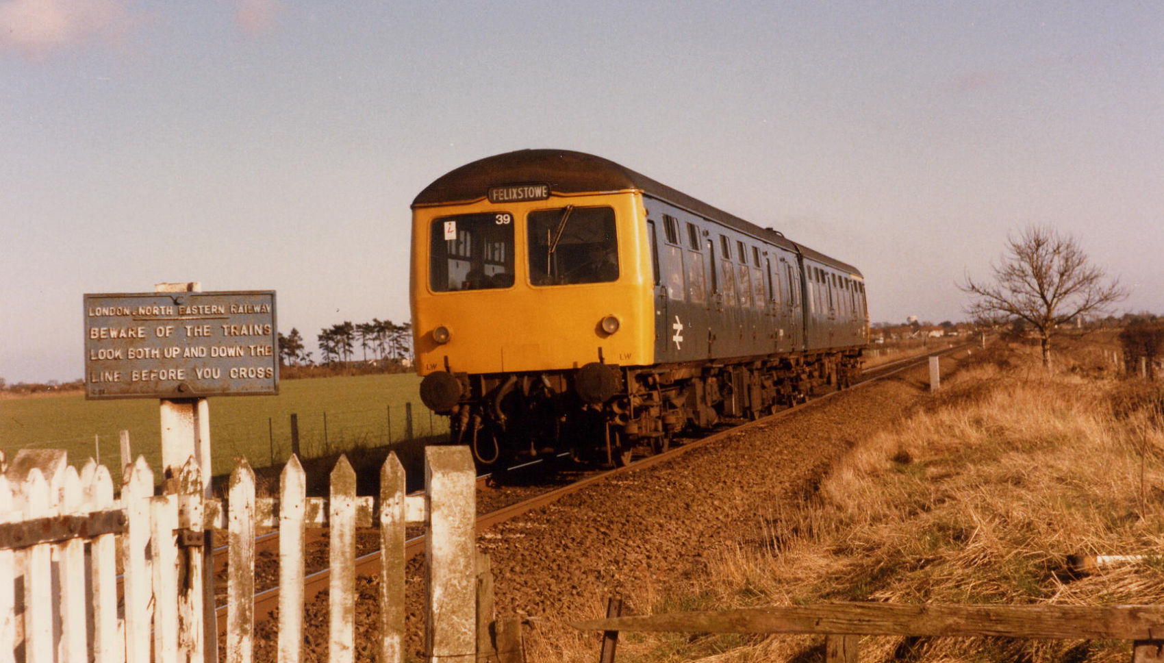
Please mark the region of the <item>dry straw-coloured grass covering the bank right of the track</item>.
MULTIPOLYGON (((984 353, 896 430, 857 445, 812 498, 762 514, 693 586, 638 605, 1164 602, 1158 560, 1085 578, 1065 570, 1070 553, 1158 555, 1164 543, 1164 388, 1096 378, 1096 357, 1060 354, 1046 374, 1025 348, 984 353)), ((1119 641, 861 644, 865 662, 1128 655, 1119 641)), ((818 637, 626 634, 618 658, 816 661, 823 647, 818 637)))

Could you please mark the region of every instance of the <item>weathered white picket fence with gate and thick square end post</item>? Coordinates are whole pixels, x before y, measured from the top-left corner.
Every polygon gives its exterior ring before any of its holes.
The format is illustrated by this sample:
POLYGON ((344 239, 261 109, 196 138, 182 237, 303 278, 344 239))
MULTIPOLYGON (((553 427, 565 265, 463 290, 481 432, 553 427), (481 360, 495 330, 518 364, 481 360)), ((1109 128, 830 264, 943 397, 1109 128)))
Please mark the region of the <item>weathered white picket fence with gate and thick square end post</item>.
MULTIPOLYGON (((0 663, 203 663, 204 529, 228 531, 225 660, 254 656, 255 530, 279 530, 278 661, 303 658, 304 538, 329 528, 328 657, 355 653, 355 534, 378 526, 378 660, 404 661, 405 526, 427 527, 427 656, 432 661, 496 657, 478 651, 476 492, 466 447, 426 450, 424 495, 406 496, 395 454, 381 470, 378 500, 356 496, 346 458, 331 475, 331 496, 306 496, 298 459, 283 468, 277 499, 255 495, 255 474, 239 460, 226 505, 204 498, 193 459, 163 482, 139 458, 115 496, 109 471, 90 460, 77 472, 63 453, 0 475, 0 663), (119 600, 118 573, 122 576, 119 600)), ((16 464, 14 464, 16 465, 16 464)), ((491 597, 488 598, 491 606, 491 597)), ((210 615, 204 618, 204 615, 210 615)), ((218 643, 210 643, 217 647, 218 643)), ((210 655, 208 655, 210 654, 210 655)))

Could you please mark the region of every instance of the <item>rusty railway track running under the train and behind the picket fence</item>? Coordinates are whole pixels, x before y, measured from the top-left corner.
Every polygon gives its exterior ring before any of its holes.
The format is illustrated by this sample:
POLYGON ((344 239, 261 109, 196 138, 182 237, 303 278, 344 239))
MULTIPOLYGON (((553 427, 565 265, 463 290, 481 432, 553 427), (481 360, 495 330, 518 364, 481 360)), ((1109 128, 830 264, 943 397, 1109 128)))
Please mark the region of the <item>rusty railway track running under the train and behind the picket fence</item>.
MULTIPOLYGON (((767 423, 771 423, 771 422, 774 422, 774 421, 779 421, 780 418, 783 418, 783 417, 790 416, 793 414, 803 411, 807 408, 818 407, 822 403, 828 402, 831 397, 833 397, 833 396, 836 396, 838 394, 842 394, 842 393, 845 393, 845 392, 852 392, 854 389, 859 389, 861 387, 872 385, 872 383, 874 383, 874 382, 876 382, 879 380, 885 380, 886 378, 889 378, 889 376, 893 376, 893 375, 895 375, 897 373, 901 373, 903 371, 908 371, 910 368, 914 368, 914 367, 916 367, 918 365, 922 365, 922 364, 927 362, 928 359, 929 359, 929 357, 950 354, 950 353, 954 353, 954 352, 959 352, 959 351, 964 351, 964 350, 968 350, 968 348, 975 347, 975 345, 977 344, 974 344, 974 343, 967 343, 967 344, 956 345, 956 346, 951 346, 951 347, 943 348, 943 350, 939 350, 939 351, 935 351, 935 352, 931 352, 931 353, 927 353, 927 354, 922 354, 922 355, 916 355, 916 357, 909 357, 909 358, 906 358, 906 359, 900 359, 900 360, 896 360, 896 361, 890 361, 890 362, 887 362, 887 364, 881 364, 881 365, 871 367, 871 368, 865 369, 863 372, 864 375, 865 375, 865 378, 860 382, 857 382, 857 383, 852 385, 847 389, 830 392, 828 394, 822 394, 822 395, 816 396, 816 397, 814 397, 812 400, 810 400, 810 401, 808 401, 805 403, 801 403, 801 404, 794 405, 792 408, 781 410, 781 411, 775 412, 773 415, 760 417, 760 418, 754 419, 754 421, 748 421, 748 422, 744 422, 744 423, 740 423, 740 424, 737 424, 737 425, 731 425, 730 428, 724 428, 723 430, 715 431, 711 435, 704 436, 702 438, 694 439, 694 440, 690 440, 690 442, 686 442, 686 443, 672 446, 672 449, 669 449, 668 451, 665 451, 662 453, 658 453, 658 454, 644 457, 644 458, 641 458, 639 460, 636 460, 636 461, 633 461, 633 463, 631 463, 631 464, 629 464, 629 465, 626 465, 624 467, 618 467, 618 468, 613 468, 613 470, 605 470, 605 471, 595 472, 595 473, 591 473, 589 475, 583 477, 582 479, 573 481, 573 482, 570 482, 570 484, 568 484, 566 486, 561 486, 559 488, 554 488, 554 489, 547 491, 545 493, 541 493, 539 495, 535 495, 535 496, 532 496, 532 498, 528 498, 528 499, 514 502, 512 505, 509 505, 509 506, 505 506, 505 507, 501 507, 501 508, 491 510, 489 513, 481 514, 481 515, 477 516, 476 529, 477 529, 478 532, 482 532, 482 531, 484 531, 484 530, 487 530, 487 529, 489 529, 489 528, 491 528, 491 527, 494 527, 494 526, 496 526, 498 523, 503 523, 503 522, 506 522, 509 520, 516 519, 517 516, 519 516, 519 515, 521 515, 521 514, 524 514, 526 512, 530 512, 530 510, 533 510, 533 509, 537 509, 537 508, 541 508, 541 507, 544 507, 546 505, 553 503, 553 502, 560 500, 561 498, 565 498, 566 495, 569 495, 572 493, 575 493, 577 491, 581 491, 581 489, 585 488, 587 486, 590 486, 590 485, 594 485, 594 484, 597 484, 597 482, 601 482, 601 481, 609 480, 609 479, 611 479, 613 477, 618 477, 618 475, 627 473, 627 472, 634 472, 634 471, 643 470, 643 468, 646 468, 646 467, 651 467, 651 466, 654 466, 654 465, 659 465, 659 464, 662 464, 662 463, 668 463, 670 460, 674 460, 679 456, 681 456, 683 453, 687 453, 688 451, 691 451, 691 450, 695 450, 695 449, 698 449, 698 447, 702 447, 702 446, 707 446, 707 445, 710 445, 710 444, 715 444, 716 442, 724 439, 729 435, 738 433, 740 431, 746 431, 748 429, 752 429, 752 428, 755 428, 755 426, 759 426, 759 425, 764 425, 764 424, 767 424, 767 423)), ((525 464, 525 465, 530 465, 530 464, 525 464)), ((477 487, 478 487, 478 489, 483 488, 487 485, 488 479, 489 479, 488 474, 481 475, 481 477, 477 478, 477 487)), ((305 545, 312 545, 312 544, 315 544, 315 543, 319 543, 319 542, 322 542, 322 541, 326 541, 326 539, 327 539, 327 530, 326 529, 307 530, 305 545)), ((277 549, 277 546, 278 546, 278 530, 271 530, 269 532, 264 532, 264 534, 257 536, 255 538, 255 541, 256 541, 256 557, 258 556, 258 553, 260 553, 261 550, 277 549)), ((424 548, 425 548, 425 537, 424 537, 424 535, 416 536, 416 537, 412 537, 412 538, 407 539, 405 542, 405 558, 406 559, 411 559, 412 557, 414 557, 414 556, 419 555, 420 552, 423 552, 424 548)), ((215 572, 217 573, 220 572, 220 571, 223 571, 226 569, 226 560, 227 560, 226 551, 227 551, 227 546, 225 546, 225 545, 223 546, 218 546, 218 548, 214 549, 214 567, 215 567, 215 572)), ((378 569, 379 569, 379 556, 381 556, 379 550, 375 550, 372 552, 368 552, 365 555, 356 557, 356 560, 355 560, 355 571, 356 571, 356 574, 357 576, 371 576, 371 574, 375 574, 376 572, 378 572, 378 569)), ((318 570, 315 572, 312 572, 312 573, 308 573, 304 578, 304 600, 305 601, 311 601, 318 594, 320 594, 322 592, 326 592, 327 588, 328 588, 329 579, 331 579, 331 571, 327 567, 320 569, 320 570, 318 570)), ((271 612, 278 607, 278 594, 279 594, 279 587, 278 586, 272 586, 272 587, 265 588, 265 590, 260 591, 260 592, 257 592, 255 594, 255 613, 254 614, 255 614, 256 622, 262 622, 262 621, 265 621, 265 620, 268 620, 270 618, 271 612)), ((219 622, 219 632, 220 633, 222 632, 222 629, 226 628, 226 612, 227 612, 227 607, 226 607, 225 604, 223 605, 218 605, 215 607, 215 616, 217 616, 218 622, 219 622)))

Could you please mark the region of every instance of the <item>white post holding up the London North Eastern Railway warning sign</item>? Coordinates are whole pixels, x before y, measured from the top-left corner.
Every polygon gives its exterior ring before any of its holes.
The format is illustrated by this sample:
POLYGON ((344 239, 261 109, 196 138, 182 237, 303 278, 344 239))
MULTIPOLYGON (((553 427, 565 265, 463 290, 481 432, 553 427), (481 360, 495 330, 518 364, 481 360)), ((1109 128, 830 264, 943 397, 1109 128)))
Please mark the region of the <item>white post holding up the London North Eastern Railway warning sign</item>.
MULTIPOLYGON (((187 283, 156 283, 155 292, 201 292, 198 281, 187 283)), ((180 386, 179 386, 180 389, 180 386)), ((201 467, 203 494, 211 498, 211 410, 206 398, 161 398, 162 416, 162 475, 177 478, 191 456, 201 467)), ((128 436, 126 436, 128 442, 128 436)), ((203 642, 206 663, 218 663, 218 620, 214 615, 214 564, 211 531, 203 535, 203 642)), ((196 555, 197 549, 186 549, 196 555)))

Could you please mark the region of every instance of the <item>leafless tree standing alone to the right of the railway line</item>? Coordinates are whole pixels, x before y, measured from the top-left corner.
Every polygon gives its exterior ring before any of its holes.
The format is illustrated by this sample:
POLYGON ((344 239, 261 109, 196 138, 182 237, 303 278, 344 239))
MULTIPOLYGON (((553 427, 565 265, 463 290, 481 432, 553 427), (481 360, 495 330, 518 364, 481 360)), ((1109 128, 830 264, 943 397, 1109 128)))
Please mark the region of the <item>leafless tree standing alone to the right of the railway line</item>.
POLYGON ((965 311, 974 318, 1023 320, 1037 333, 1043 366, 1051 365, 1051 339, 1059 325, 1078 316, 1102 312, 1128 296, 1119 280, 1109 281, 1091 265, 1079 244, 1045 226, 1029 226, 1007 238, 1000 263, 991 265, 993 281, 968 275, 959 288, 973 301, 965 311))

